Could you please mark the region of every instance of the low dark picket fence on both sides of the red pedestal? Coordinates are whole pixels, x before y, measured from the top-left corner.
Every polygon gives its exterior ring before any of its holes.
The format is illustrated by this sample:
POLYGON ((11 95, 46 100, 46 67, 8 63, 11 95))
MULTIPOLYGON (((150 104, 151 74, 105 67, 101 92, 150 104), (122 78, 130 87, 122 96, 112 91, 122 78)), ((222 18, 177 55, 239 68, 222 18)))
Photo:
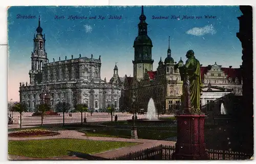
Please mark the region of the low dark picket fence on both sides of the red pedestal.
MULTIPOLYGON (((171 160, 175 152, 175 146, 160 145, 149 149, 114 157, 111 160, 171 160)), ((242 152, 222 151, 206 149, 208 158, 211 160, 237 160, 250 159, 252 155, 242 152)))

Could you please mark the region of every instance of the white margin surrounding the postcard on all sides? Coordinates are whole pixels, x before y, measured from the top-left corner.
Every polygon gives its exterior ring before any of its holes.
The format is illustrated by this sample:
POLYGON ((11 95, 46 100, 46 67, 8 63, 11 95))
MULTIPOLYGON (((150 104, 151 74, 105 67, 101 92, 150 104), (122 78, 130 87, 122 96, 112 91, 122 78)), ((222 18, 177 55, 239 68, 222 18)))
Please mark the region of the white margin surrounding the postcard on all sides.
MULTIPOLYGON (((137 5, 251 5, 255 6, 256 1, 250 1, 250 0, 215 0, 215 1, 205 1, 205 0, 194 0, 194 1, 188 1, 185 0, 128 0, 124 2, 123 0, 44 0, 44 1, 35 1, 35 0, 9 0, 9 1, 1 1, 0 2, 0 54, 1 54, 1 60, 0 60, 0 86, 1 86, 1 94, 0 94, 0 105, 1 105, 1 119, 0 119, 0 126, 1 128, 1 139, 0 139, 0 145, 1 145, 1 152, 0 152, 0 163, 7 163, 7 162, 15 162, 15 161, 8 161, 7 160, 7 7, 8 6, 137 6, 137 5), (3 45, 5 44, 5 45, 3 45)), ((253 8, 254 9, 254 8, 253 8)), ((253 16, 255 15, 255 10, 253 10, 253 16)), ((255 31, 255 21, 253 21, 253 31, 255 31)), ((255 37, 255 32, 253 34, 253 38, 255 37)), ((255 40, 255 39, 254 39, 255 40)), ((255 46, 253 46, 255 50, 255 46)), ((241 53, 242 56, 242 53, 241 53)), ((253 60, 254 61, 254 60, 253 60)), ((253 76, 255 75, 255 71, 253 73, 253 76)), ((255 86, 255 84, 253 84, 255 86)), ((255 97, 254 97, 255 100, 255 97)), ((254 120, 255 121, 255 120, 254 120)), ((254 139, 255 143, 255 139, 254 139)), ((17 161, 16 163, 82 163, 86 161, 17 161)), ((134 163, 138 161, 88 161, 90 163, 96 163, 96 162, 107 162, 107 163, 116 163, 116 162, 122 162, 122 163, 134 163)), ((160 162, 160 161, 139 161, 141 162, 147 162, 147 163, 153 163, 153 162, 160 162)), ((161 161, 165 163, 169 162, 177 162, 177 161, 161 161)), ((179 161, 182 163, 187 163, 189 161, 179 161)), ((203 161, 199 161, 203 162, 203 161)), ((210 161, 210 162, 217 162, 217 161, 210 161)), ((220 162, 220 161, 218 161, 220 162)), ((221 161, 224 162, 224 161, 221 161)), ((225 162, 233 162, 233 161, 225 161, 225 162)), ((253 161, 249 161, 253 162, 253 161)))

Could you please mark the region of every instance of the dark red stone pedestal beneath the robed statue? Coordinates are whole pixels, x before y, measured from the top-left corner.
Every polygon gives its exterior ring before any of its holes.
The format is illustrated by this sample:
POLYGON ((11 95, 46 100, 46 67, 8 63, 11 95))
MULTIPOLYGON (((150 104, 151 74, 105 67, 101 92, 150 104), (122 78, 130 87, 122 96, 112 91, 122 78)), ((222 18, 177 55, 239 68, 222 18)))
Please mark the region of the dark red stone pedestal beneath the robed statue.
POLYGON ((204 113, 176 115, 178 136, 175 160, 206 160, 204 143, 204 113))

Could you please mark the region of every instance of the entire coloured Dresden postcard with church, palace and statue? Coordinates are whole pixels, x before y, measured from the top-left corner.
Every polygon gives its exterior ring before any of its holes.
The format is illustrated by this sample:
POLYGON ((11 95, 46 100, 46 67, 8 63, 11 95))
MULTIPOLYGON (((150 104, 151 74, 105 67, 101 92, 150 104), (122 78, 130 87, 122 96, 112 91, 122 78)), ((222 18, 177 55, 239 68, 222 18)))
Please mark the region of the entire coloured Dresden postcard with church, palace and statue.
POLYGON ((253 158, 251 6, 8 8, 9 160, 253 158))

